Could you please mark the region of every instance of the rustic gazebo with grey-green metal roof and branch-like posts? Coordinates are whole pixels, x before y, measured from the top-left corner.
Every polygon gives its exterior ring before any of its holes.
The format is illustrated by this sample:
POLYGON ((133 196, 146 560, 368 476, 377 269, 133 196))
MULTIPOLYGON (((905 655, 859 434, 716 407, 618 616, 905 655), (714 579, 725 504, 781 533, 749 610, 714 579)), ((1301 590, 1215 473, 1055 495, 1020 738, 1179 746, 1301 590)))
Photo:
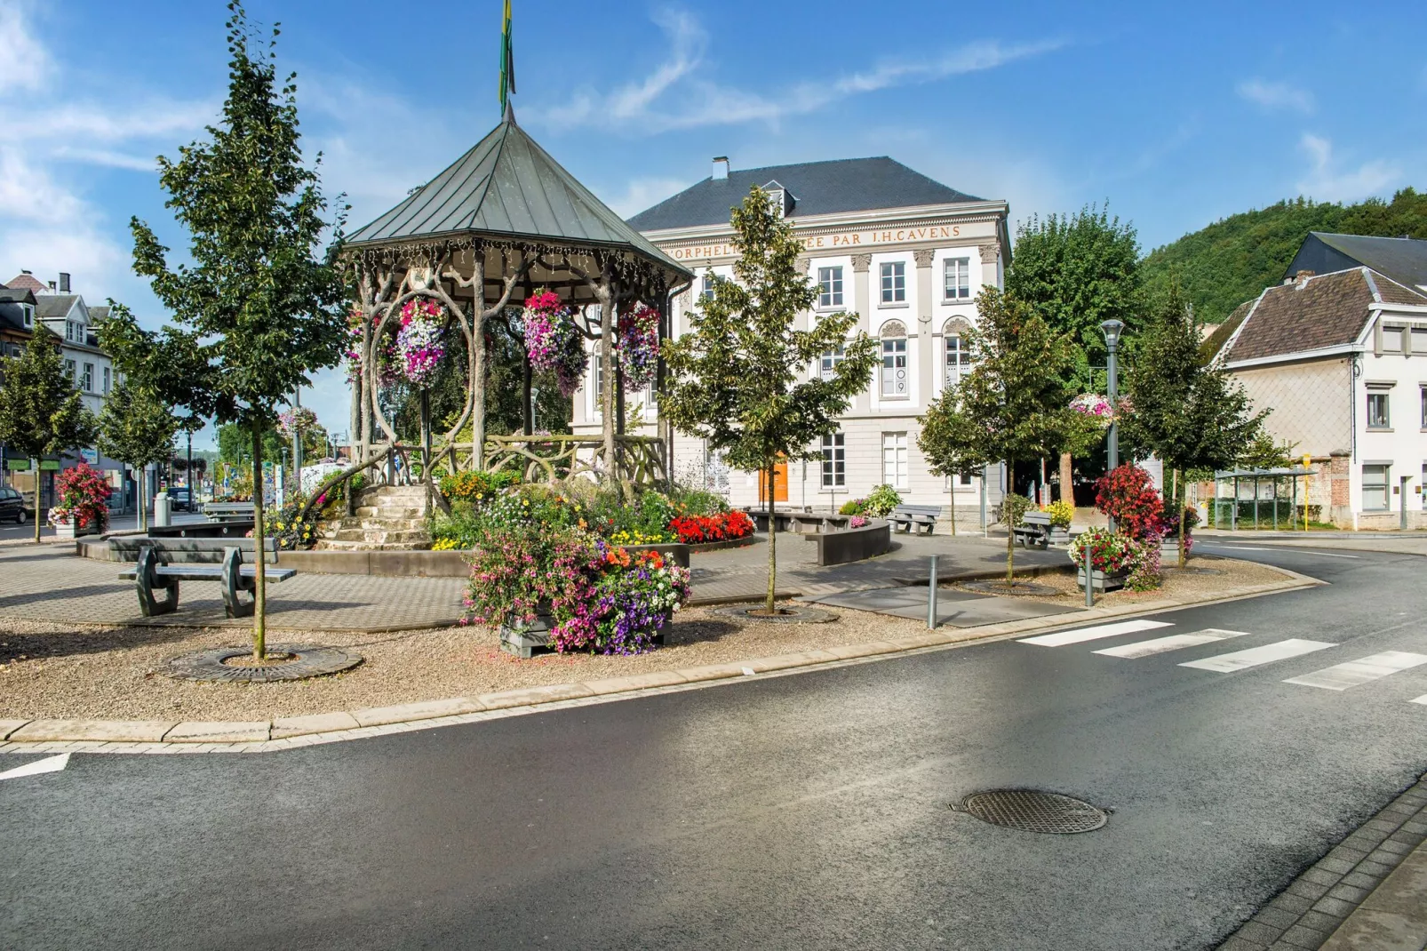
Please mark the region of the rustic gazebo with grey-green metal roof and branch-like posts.
MULTIPOLYGON (((621 308, 642 303, 658 311, 659 337, 666 337, 671 297, 694 274, 561 167, 517 124, 509 106, 504 120, 469 151, 354 231, 342 261, 357 288, 352 350, 360 357, 352 378, 355 464, 344 478, 368 468, 380 481, 410 480, 414 457, 421 458, 421 478, 431 491, 440 470, 501 464, 519 466, 527 477, 575 471, 621 481, 668 477, 666 426, 661 423, 658 437, 622 433, 615 320, 621 308), (578 314, 581 333, 596 341, 602 366, 615 367, 615 373, 599 374, 599 438, 534 436, 528 424, 522 434, 485 431, 487 321, 502 317, 534 288, 558 294, 578 314), (384 386, 380 341, 412 300, 444 308, 448 331, 459 327, 467 341, 469 361, 459 420, 434 438, 424 411, 420 446, 398 438, 377 398, 384 386), (468 443, 461 438, 467 424, 468 443)), ((525 386, 528 390, 528 374, 525 386)), ((662 390, 662 360, 656 386, 662 390)), ((528 407, 528 391, 525 397, 528 407)))

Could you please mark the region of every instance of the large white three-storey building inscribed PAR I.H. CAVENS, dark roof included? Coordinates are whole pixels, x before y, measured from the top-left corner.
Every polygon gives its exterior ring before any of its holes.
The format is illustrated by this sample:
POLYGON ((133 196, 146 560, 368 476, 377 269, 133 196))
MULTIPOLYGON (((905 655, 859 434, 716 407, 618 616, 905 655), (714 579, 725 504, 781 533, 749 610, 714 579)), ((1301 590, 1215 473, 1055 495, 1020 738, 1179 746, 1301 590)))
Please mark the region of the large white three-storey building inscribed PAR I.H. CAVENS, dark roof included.
MULTIPOLYGON (((753 186, 768 191, 806 246, 803 264, 819 287, 813 311, 855 311, 858 330, 878 340, 882 366, 858 394, 836 436, 823 440, 822 461, 781 467, 776 501, 793 507, 836 508, 888 483, 910 504, 948 505, 955 488, 958 518, 976 520, 982 480, 932 476, 916 447, 916 417, 969 370, 962 334, 976 323, 976 294, 1002 287, 1010 256, 1005 201, 976 198, 922 176, 892 158, 850 158, 729 170, 716 158, 714 174, 641 211, 629 224, 699 277, 675 298, 671 333, 688 327, 695 294, 714 277, 731 278, 735 248, 729 211, 753 186)), ((809 374, 831 370, 838 353, 809 374)), ((595 383, 598 361, 591 361, 595 383)), ((575 394, 574 431, 599 431, 595 386, 575 394)), ((644 431, 655 433, 654 393, 626 394, 642 404, 644 431)), ((728 493, 735 505, 759 501, 753 473, 729 473, 702 440, 676 434, 674 474, 728 493)), ((990 470, 987 504, 1000 501, 999 470, 990 470)))

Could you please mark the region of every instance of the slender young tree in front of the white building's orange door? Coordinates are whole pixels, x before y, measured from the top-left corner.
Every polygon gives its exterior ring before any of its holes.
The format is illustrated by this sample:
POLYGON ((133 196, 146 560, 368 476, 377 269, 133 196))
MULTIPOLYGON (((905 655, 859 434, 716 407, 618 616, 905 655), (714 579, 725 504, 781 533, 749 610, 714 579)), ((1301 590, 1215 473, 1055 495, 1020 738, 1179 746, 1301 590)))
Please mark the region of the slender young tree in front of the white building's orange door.
POLYGON ((735 468, 768 480, 768 600, 775 613, 778 525, 773 517, 773 470, 782 460, 818 458, 815 446, 838 430, 852 397, 872 380, 876 350, 862 331, 848 340, 856 314, 818 318, 795 330, 809 313, 818 288, 798 257, 802 241, 761 188, 733 208, 733 244, 739 258, 733 280, 714 284, 688 314, 691 331, 665 344, 669 390, 659 411, 685 433, 723 450, 735 468), (843 347, 829 377, 808 378, 823 353, 843 347))

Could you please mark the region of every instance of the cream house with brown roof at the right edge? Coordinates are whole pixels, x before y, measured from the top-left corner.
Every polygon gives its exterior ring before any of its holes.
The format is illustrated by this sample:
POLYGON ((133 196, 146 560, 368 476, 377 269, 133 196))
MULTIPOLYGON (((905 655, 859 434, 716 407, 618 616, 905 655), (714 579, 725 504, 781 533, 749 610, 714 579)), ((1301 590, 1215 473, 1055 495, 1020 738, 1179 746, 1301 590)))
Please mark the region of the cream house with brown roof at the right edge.
POLYGON ((1396 528, 1404 511, 1427 527, 1427 291, 1363 264, 1300 267, 1209 346, 1274 438, 1313 457, 1310 505, 1341 527, 1396 528))

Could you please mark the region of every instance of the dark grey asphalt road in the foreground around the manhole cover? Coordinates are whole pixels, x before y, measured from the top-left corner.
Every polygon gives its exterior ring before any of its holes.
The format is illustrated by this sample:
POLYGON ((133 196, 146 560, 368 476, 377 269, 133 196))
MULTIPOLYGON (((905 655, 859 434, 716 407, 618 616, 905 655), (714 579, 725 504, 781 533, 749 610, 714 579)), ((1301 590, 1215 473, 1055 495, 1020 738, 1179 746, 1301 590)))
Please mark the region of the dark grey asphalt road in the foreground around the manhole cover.
POLYGON ((1333 585, 277 754, 74 755, 0 781, 0 945, 1209 948, 1427 768, 1427 665, 1283 683, 1427 654, 1427 561, 1236 554, 1333 585), (1204 628, 1243 634, 1095 653, 1204 628), (1180 667, 1286 638, 1336 647, 1180 667), (949 808, 995 787, 1114 811, 1037 835, 949 808))

